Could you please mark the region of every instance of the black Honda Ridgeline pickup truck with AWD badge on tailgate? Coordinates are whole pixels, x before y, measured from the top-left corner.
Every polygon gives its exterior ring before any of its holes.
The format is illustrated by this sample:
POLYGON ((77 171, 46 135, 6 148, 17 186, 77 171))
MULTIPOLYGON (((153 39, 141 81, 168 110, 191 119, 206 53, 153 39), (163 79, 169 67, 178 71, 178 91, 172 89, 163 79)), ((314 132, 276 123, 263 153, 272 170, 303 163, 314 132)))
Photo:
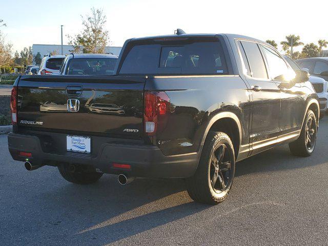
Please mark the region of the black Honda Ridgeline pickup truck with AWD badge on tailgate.
POLYGON ((309 74, 260 40, 181 31, 132 38, 115 71, 18 77, 12 157, 27 170, 56 166, 80 184, 103 173, 121 184, 185 178, 193 200, 216 204, 236 161, 278 144, 297 156, 315 148, 319 103, 309 74))

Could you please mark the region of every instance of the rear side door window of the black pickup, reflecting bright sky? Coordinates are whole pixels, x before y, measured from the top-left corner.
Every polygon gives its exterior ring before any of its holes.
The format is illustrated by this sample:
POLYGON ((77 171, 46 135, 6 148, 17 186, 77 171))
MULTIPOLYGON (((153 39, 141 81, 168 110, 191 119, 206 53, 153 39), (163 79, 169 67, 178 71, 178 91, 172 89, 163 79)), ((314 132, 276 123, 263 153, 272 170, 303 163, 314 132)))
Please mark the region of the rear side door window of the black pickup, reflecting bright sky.
POLYGON ((268 78, 267 69, 265 68, 264 60, 258 45, 247 41, 242 41, 241 44, 247 56, 252 77, 268 78))

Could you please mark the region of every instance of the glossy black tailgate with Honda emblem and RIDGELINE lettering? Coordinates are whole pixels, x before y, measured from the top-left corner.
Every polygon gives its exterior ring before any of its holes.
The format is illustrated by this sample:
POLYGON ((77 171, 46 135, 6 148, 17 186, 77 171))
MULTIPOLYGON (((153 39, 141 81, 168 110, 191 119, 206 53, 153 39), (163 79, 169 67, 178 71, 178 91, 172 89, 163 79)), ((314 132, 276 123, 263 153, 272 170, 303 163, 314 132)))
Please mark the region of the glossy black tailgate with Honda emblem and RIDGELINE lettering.
POLYGON ((23 76, 18 129, 53 129, 139 138, 145 77, 23 76))

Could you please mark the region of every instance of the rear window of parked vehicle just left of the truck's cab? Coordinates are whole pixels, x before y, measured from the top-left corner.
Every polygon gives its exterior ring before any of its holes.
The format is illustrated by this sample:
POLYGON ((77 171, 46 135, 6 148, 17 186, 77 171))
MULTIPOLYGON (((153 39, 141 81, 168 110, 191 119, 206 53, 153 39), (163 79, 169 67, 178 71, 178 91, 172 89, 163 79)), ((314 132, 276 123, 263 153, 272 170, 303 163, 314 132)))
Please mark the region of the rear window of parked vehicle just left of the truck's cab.
POLYGON ((117 58, 73 58, 70 59, 67 75, 112 75, 117 58))

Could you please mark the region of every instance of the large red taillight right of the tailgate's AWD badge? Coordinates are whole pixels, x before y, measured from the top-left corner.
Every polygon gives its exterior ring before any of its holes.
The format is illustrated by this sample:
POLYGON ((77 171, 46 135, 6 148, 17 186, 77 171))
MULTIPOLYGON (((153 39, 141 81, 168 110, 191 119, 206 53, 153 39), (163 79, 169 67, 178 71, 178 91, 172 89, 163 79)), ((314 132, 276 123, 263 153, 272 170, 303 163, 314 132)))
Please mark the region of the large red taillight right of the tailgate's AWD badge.
POLYGON ((163 91, 147 91, 144 104, 144 131, 152 136, 166 126, 170 113, 170 98, 163 91))

